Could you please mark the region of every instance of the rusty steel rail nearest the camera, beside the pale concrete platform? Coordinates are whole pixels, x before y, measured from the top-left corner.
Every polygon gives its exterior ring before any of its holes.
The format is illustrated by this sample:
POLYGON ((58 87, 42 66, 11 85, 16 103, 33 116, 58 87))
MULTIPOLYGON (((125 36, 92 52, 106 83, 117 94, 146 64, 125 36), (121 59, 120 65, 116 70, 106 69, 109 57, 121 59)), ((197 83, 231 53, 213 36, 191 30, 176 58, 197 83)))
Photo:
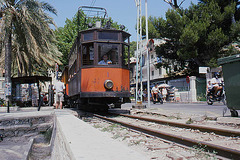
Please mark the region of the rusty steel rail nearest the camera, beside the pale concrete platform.
POLYGON ((166 132, 162 132, 162 131, 157 131, 157 130, 153 130, 153 129, 149 129, 146 127, 141 127, 141 126, 137 126, 137 125, 132 125, 130 123, 126 123, 126 122, 122 122, 122 121, 118 121, 112 118, 106 118, 97 114, 94 114, 93 116, 98 117, 100 119, 109 121, 109 122, 113 122, 113 123, 118 123, 121 124, 122 126, 125 126, 127 128, 131 128, 152 136, 156 136, 162 139, 166 139, 169 141, 173 141, 179 144, 183 144, 186 146, 198 146, 198 147, 205 147, 205 149, 209 150, 210 152, 215 151, 217 155, 220 155, 222 157, 226 157, 226 158, 231 158, 231 159, 239 159, 240 157, 240 150, 236 150, 236 149, 231 149, 231 148, 227 148, 227 147, 223 147, 220 145, 214 145, 208 142, 203 142, 203 141, 197 141, 194 139, 190 139, 190 138, 186 138, 186 137, 182 137, 182 136, 177 136, 177 135, 173 135, 170 133, 166 133, 166 132))

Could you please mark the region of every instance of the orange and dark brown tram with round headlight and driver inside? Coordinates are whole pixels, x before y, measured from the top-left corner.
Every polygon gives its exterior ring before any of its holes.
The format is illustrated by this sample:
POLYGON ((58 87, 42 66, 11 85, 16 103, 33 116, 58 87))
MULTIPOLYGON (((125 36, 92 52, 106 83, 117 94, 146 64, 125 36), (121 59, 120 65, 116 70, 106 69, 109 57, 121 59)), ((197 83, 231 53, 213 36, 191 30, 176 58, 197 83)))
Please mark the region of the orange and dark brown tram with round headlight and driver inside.
POLYGON ((119 108, 129 102, 129 37, 109 27, 79 32, 65 74, 71 105, 106 109, 109 104, 119 108))

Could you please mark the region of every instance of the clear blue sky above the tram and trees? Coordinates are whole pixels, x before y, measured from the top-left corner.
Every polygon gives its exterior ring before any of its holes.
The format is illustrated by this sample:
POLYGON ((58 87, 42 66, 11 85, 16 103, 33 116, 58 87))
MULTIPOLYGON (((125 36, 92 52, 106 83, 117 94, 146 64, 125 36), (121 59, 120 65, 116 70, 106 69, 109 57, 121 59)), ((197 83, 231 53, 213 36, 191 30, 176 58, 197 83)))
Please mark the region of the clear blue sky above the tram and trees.
MULTIPOLYGON (((183 8, 187 8, 190 3, 196 4, 198 0, 185 0, 183 8)), ((135 30, 137 19, 137 7, 135 0, 48 0, 57 10, 57 16, 51 15, 57 27, 63 27, 66 18, 72 19, 80 6, 102 7, 107 10, 108 16, 112 17, 114 22, 126 26, 128 32, 132 35, 130 40, 136 41, 137 33, 135 30)), ((148 16, 165 17, 165 12, 171 8, 164 0, 148 0, 148 16)), ((142 15, 145 15, 145 0, 142 0, 142 15)))

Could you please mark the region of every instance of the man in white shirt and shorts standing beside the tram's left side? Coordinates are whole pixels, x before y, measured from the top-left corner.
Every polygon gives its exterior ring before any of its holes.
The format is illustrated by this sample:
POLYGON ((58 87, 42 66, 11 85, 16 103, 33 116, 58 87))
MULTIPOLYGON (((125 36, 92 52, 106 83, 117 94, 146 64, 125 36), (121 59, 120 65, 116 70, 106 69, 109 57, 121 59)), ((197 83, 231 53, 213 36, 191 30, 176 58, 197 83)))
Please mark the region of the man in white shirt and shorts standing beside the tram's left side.
POLYGON ((57 80, 56 84, 53 87, 55 91, 55 98, 56 98, 56 109, 58 109, 58 106, 60 105, 60 109, 62 109, 62 102, 64 101, 63 97, 63 91, 65 89, 64 83, 60 80, 57 80))

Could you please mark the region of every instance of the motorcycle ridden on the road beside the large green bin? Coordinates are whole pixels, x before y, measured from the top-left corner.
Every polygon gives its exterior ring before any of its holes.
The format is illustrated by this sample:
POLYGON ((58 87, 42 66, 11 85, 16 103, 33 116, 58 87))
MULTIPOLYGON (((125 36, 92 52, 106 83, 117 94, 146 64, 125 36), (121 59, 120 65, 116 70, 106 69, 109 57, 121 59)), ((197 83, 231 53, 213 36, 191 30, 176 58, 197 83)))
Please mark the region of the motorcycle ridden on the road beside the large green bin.
POLYGON ((217 95, 214 94, 214 91, 210 91, 207 93, 207 104, 212 105, 214 102, 223 102, 224 105, 226 105, 226 96, 224 87, 222 86, 222 91, 218 91, 217 95))

